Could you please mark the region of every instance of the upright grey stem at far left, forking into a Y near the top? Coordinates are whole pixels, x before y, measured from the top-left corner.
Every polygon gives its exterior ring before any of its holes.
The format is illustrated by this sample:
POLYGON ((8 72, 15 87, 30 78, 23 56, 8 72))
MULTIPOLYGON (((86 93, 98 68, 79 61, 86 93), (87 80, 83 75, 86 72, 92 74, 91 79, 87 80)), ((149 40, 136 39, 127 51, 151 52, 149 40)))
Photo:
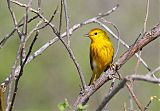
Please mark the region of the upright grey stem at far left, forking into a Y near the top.
POLYGON ((18 59, 20 58, 20 64, 22 64, 23 59, 24 59, 23 55, 25 53, 24 50, 25 50, 25 37, 27 35, 27 21, 28 21, 28 8, 27 7, 28 6, 26 7, 26 13, 25 13, 24 19, 23 19, 24 25, 23 25, 22 33, 21 33, 21 31, 18 29, 18 23, 17 23, 16 17, 15 17, 15 14, 14 14, 11 6, 10 6, 10 0, 8 0, 7 3, 8 3, 8 9, 9 9, 9 11, 11 13, 11 16, 12 16, 12 19, 13 19, 13 22, 14 22, 15 29, 17 30, 17 33, 18 33, 19 38, 20 38, 20 45, 19 45, 19 48, 18 48, 18 51, 17 51, 16 61, 15 61, 15 64, 13 66, 13 70, 12 70, 10 76, 9 76, 10 77, 9 78, 10 82, 9 82, 9 88, 8 88, 9 89, 9 91, 8 91, 9 93, 7 95, 6 111, 8 111, 8 110, 11 111, 12 107, 13 107, 13 103, 14 103, 14 101, 12 101, 14 97, 12 97, 12 99, 11 99, 13 78, 14 78, 14 75, 15 75, 16 67, 18 65, 18 59))

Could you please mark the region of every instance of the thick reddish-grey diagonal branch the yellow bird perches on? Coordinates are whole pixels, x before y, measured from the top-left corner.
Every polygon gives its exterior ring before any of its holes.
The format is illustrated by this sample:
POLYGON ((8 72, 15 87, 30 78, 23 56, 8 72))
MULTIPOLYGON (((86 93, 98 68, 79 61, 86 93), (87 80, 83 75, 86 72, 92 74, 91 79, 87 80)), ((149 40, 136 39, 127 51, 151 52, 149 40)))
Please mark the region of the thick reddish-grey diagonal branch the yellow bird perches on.
MULTIPOLYGON (((130 49, 128 49, 120 58, 114 63, 117 70, 119 70, 136 52, 145 47, 148 43, 155 40, 160 36, 160 24, 156 25, 151 31, 147 32, 143 38, 137 41, 130 49)), ((105 82, 109 81, 109 76, 116 73, 116 70, 109 69, 106 75, 103 74, 96 82, 95 85, 91 85, 87 91, 83 94, 79 94, 75 106, 78 104, 86 104, 88 98, 95 93, 105 82)))

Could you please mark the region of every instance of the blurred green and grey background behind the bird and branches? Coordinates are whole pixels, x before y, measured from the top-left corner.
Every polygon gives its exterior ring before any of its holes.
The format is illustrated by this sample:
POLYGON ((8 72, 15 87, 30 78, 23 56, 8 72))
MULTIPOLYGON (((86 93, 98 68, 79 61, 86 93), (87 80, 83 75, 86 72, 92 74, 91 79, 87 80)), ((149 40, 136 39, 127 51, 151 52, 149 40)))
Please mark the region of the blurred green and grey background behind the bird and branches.
MULTIPOLYGON (((27 1, 23 1, 27 2, 27 1)), ((146 13, 147 0, 68 0, 68 13, 70 17, 70 27, 88 18, 96 16, 98 13, 107 12, 116 4, 120 4, 118 10, 110 16, 105 17, 108 21, 116 24, 121 38, 129 45, 133 44, 139 33, 142 31, 144 17, 146 13)), ((37 9, 37 1, 33 1, 32 7, 37 9)), ((43 15, 49 19, 60 6, 59 0, 42 0, 43 15)), ((23 16, 24 9, 13 5, 18 20, 23 16)), ((30 13, 30 15, 33 15, 30 13)), ((31 16, 30 16, 31 17, 31 16)), ((149 17, 147 30, 155 26, 160 21, 160 0, 150 0, 149 17)), ((37 21, 29 24, 31 30, 37 21)), ((58 27, 59 11, 54 18, 53 24, 58 27)), ((65 31, 65 21, 63 18, 63 29, 65 31)), ((111 29, 113 27, 106 24, 111 29)), ((71 36, 71 48, 80 63, 85 80, 88 83, 91 76, 89 64, 89 43, 88 38, 83 37, 90 29, 100 27, 97 24, 89 24, 74 31, 71 36)), ((13 23, 7 8, 7 3, 2 0, 0 3, 0 40, 13 29, 13 23)), ((113 29, 114 31, 115 29, 113 29)), ((115 31, 114 31, 115 32, 115 31)), ((115 32, 116 33, 116 32, 115 32)), ((33 37, 33 36, 32 36, 33 37)), ((50 28, 41 30, 33 52, 38 50, 48 40, 55 35, 50 28)), ((116 49, 116 40, 111 37, 116 49)), ((30 42, 27 42, 29 45, 30 42)), ((19 45, 17 34, 11 37, 5 46, 0 49, 0 82, 8 76, 15 60, 16 51, 19 45)), ((155 69, 160 65, 160 39, 143 48, 142 58, 146 63, 155 69)), ((118 57, 126 51, 122 45, 118 57)), ((132 57, 121 69, 120 73, 125 76, 134 73, 137 58, 132 57)), ((138 68, 139 74, 146 74, 148 71, 142 64, 138 68)), ((159 72, 157 73, 157 75, 159 72)), ((160 75, 160 74, 159 74, 160 75)), ((159 76, 160 77, 160 76, 159 76)), ((30 62, 24 70, 24 75, 20 80, 19 90, 16 97, 14 111, 58 111, 57 105, 67 98, 72 105, 80 91, 80 80, 77 70, 71 61, 66 49, 59 41, 50 46, 42 55, 30 62)), ((104 85, 91 98, 88 104, 88 111, 93 111, 108 92, 110 83, 104 85)), ((158 85, 145 82, 135 82, 134 91, 145 106, 151 96, 160 98, 160 87, 158 85)), ((126 88, 121 90, 109 103, 110 111, 122 111, 124 103, 129 107, 129 93, 126 88)), ((136 105, 134 108, 137 109, 136 105)), ((149 107, 150 111, 160 110, 160 102, 153 101, 149 107)))

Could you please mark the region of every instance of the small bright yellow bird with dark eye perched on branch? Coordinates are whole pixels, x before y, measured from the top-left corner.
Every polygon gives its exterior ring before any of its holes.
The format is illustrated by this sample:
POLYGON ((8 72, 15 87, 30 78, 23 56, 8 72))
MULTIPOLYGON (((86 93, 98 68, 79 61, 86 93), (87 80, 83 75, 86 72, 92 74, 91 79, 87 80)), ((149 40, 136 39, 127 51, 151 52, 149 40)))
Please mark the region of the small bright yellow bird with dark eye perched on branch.
POLYGON ((86 36, 91 39, 90 66, 93 71, 89 82, 89 85, 91 85, 100 77, 102 72, 111 66, 114 48, 109 36, 102 29, 94 28, 86 36))

